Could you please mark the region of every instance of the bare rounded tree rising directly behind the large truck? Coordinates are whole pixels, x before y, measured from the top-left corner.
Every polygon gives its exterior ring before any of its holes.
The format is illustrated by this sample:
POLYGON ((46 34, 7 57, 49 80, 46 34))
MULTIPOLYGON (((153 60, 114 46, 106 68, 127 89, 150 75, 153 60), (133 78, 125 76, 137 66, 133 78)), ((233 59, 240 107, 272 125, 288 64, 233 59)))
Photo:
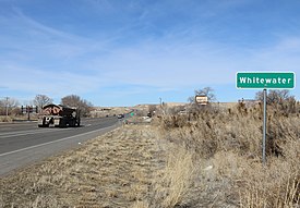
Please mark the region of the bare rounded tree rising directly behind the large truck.
POLYGON ((81 111, 81 114, 85 117, 88 115, 91 108, 93 107, 92 102, 81 99, 81 97, 76 95, 61 98, 61 105, 77 108, 81 111))

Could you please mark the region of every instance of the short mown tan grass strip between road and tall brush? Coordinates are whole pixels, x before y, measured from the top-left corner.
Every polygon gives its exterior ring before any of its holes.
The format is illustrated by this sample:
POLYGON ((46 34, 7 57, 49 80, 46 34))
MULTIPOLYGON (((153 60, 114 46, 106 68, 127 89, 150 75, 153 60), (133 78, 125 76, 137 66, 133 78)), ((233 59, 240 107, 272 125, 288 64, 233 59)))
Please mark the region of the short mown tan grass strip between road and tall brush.
POLYGON ((123 126, 0 179, 0 207, 132 207, 164 155, 151 126, 123 126))

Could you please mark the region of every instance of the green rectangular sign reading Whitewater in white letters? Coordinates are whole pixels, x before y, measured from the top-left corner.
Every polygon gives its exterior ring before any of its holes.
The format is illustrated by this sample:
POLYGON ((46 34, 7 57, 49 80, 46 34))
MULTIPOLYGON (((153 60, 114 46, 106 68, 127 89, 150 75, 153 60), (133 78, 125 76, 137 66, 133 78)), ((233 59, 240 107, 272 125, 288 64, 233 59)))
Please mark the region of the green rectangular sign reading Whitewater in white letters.
POLYGON ((237 88, 241 89, 292 89, 296 77, 293 72, 238 72, 237 88))

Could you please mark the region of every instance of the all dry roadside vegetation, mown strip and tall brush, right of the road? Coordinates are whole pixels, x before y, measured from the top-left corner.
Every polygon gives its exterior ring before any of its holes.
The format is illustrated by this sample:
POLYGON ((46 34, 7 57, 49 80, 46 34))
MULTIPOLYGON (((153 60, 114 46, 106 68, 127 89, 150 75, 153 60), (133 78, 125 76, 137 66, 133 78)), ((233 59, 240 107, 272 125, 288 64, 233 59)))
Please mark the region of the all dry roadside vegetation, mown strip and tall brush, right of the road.
POLYGON ((300 118, 203 109, 125 125, 0 180, 0 207, 300 207, 300 118))

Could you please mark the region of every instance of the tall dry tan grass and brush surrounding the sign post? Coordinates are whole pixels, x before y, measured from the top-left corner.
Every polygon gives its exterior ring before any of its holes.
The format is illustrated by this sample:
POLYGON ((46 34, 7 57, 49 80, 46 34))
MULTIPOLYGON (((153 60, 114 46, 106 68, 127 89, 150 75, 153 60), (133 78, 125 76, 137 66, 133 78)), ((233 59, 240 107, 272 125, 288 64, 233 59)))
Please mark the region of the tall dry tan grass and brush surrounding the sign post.
MULTIPOLYGON (((268 108, 266 166, 261 162, 261 106, 208 107, 188 115, 161 115, 155 123, 166 140, 184 148, 192 159, 175 157, 169 163, 181 163, 181 169, 197 175, 182 178, 179 187, 165 184, 169 192, 164 201, 177 199, 166 207, 300 207, 299 113, 268 108), (180 192, 183 180, 193 185, 180 192)), ((175 174, 166 168, 164 175, 171 181, 175 174)))

